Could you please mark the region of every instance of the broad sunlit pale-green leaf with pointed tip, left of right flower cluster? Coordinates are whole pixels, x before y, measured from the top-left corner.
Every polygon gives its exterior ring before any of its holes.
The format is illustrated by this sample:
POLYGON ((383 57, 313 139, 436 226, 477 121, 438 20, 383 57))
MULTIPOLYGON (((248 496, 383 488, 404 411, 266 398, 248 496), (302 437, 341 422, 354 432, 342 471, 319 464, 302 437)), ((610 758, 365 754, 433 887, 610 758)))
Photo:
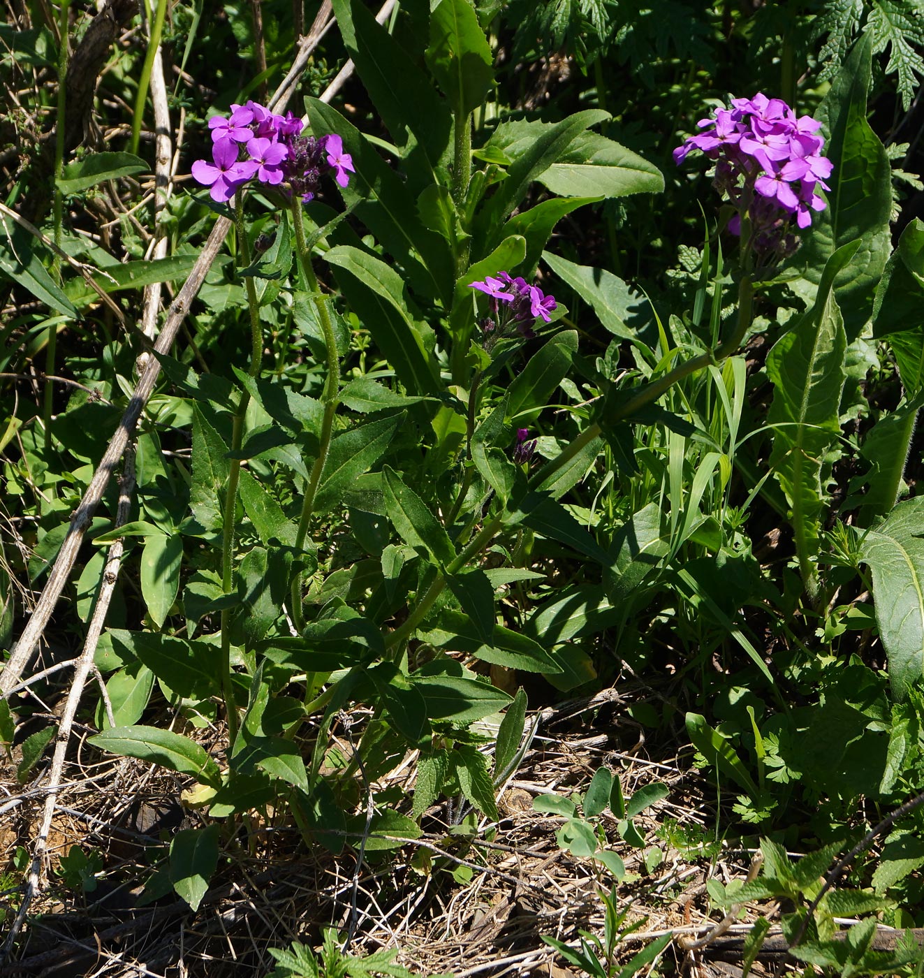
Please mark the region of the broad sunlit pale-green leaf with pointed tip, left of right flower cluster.
POLYGON ((539 182, 559 197, 613 198, 664 190, 657 166, 595 132, 581 133, 539 182))

